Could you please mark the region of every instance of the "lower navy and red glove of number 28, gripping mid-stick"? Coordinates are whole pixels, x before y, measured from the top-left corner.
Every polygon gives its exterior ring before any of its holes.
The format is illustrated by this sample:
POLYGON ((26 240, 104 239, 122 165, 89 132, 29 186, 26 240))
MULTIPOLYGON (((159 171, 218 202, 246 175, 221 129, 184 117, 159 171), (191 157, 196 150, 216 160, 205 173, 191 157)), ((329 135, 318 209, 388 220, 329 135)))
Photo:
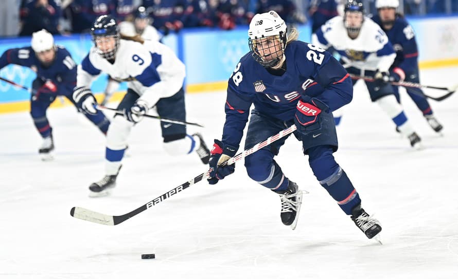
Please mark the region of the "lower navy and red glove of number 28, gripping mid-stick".
POLYGON ((208 165, 210 166, 210 178, 207 179, 209 184, 216 184, 219 180, 234 173, 235 164, 222 164, 234 157, 237 149, 238 148, 234 146, 215 140, 212 151, 210 151, 210 161, 208 162, 208 165))

